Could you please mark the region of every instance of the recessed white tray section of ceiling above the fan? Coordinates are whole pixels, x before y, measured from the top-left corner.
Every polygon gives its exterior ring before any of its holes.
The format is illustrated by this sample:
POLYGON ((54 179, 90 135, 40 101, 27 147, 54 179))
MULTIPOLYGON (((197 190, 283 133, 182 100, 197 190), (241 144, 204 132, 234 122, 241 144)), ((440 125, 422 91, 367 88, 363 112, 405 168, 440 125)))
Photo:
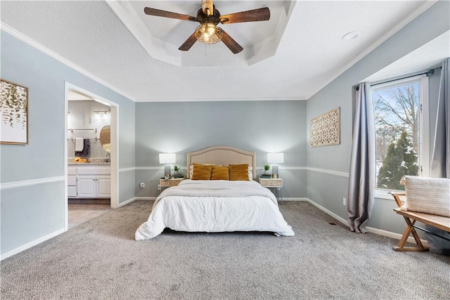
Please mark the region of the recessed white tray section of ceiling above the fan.
POLYGON ((196 42, 190 51, 179 51, 179 46, 199 23, 143 12, 143 8, 150 7, 195 17, 201 1, 108 1, 108 4, 152 58, 183 67, 213 67, 252 65, 274 56, 295 1, 214 1, 221 15, 270 6, 268 21, 219 24, 243 46, 243 52, 238 55, 232 55, 223 43, 205 46, 196 42))

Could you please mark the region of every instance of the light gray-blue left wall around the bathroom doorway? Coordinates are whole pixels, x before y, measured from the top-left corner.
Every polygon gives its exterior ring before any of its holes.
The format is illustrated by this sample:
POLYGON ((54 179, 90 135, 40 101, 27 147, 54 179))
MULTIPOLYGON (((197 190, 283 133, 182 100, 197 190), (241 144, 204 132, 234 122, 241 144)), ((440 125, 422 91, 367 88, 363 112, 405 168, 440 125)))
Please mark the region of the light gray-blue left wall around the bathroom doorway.
MULTIPOLYGON (((5 254, 64 228, 65 81, 120 105, 120 168, 134 167, 134 102, 4 31, 1 78, 28 88, 29 111, 28 145, 0 145, 0 252, 5 254), (46 183, 49 178, 56 181, 46 183)), ((134 178, 134 170, 129 173, 134 178)), ((134 197, 127 184, 119 182, 120 202, 134 197)))

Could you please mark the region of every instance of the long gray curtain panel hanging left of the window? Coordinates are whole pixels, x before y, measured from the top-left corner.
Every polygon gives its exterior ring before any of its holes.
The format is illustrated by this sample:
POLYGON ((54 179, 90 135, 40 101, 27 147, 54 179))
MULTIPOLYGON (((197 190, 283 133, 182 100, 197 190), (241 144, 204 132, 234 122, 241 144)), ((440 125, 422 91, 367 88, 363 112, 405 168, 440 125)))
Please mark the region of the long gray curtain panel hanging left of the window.
POLYGON ((353 126, 347 219, 350 230, 366 233, 375 197, 375 124, 371 86, 359 84, 353 126))

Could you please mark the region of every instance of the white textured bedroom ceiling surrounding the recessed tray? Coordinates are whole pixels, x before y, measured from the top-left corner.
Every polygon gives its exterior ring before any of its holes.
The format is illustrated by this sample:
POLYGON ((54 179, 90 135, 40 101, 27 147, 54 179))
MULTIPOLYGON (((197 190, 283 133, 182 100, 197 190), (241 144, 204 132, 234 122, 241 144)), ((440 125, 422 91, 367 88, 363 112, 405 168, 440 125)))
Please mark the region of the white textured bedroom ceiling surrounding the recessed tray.
MULTIPOLYGON (((139 7, 152 6, 192 15, 200 3, 200 0, 131 1, 130 6, 136 10, 130 13, 136 13, 139 7)), ((214 1, 221 13, 264 6, 274 7, 276 12, 283 6, 287 9, 285 18, 290 17, 284 30, 274 28, 280 24, 276 18, 281 18, 281 11, 265 25, 264 22, 223 25, 236 41, 248 48, 267 39, 265 33, 278 30, 280 34, 271 41, 275 50, 264 54, 265 59, 252 60, 249 51, 234 55, 222 43, 209 46, 196 43, 181 54, 181 66, 162 61, 149 52, 179 56, 177 48, 192 32, 188 26, 191 22, 170 19, 163 22, 164 18, 144 15, 150 30, 165 28, 160 32, 160 42, 153 43, 151 51, 142 44, 145 37, 137 38, 136 32, 129 29, 133 22, 125 25, 105 1, 2 1, 1 22, 10 32, 19 32, 49 48, 135 101, 304 100, 432 3, 214 1), (342 40, 344 34, 355 30, 361 32, 357 39, 342 40), (239 63, 229 63, 231 60, 239 63)))

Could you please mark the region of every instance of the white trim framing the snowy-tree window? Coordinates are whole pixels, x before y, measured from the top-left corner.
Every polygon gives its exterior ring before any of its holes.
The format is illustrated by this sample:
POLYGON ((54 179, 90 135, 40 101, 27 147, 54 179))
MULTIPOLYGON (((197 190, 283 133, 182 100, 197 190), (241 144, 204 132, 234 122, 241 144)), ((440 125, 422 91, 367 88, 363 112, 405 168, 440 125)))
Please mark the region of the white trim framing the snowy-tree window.
MULTIPOLYGON (((411 82, 419 82, 419 176, 428 177, 430 174, 430 91, 427 74, 419 74, 414 77, 398 79, 386 82, 385 84, 371 84, 372 93, 384 89, 392 89, 397 86, 404 86, 411 82), (373 86, 376 84, 376 87, 373 86)), ((376 148, 375 148, 376 150, 376 148)), ((376 180, 376 179, 375 179, 376 180)), ((404 190, 385 190, 375 188, 375 198, 394 200, 392 193, 404 193, 404 190)))

